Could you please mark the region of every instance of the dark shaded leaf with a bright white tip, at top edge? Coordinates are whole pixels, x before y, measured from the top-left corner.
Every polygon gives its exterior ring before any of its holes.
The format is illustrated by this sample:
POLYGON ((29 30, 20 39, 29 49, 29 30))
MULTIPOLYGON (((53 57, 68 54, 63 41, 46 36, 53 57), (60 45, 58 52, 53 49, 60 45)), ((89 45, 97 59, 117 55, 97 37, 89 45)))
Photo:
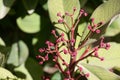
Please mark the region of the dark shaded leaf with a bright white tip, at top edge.
POLYGON ((23 4, 29 14, 32 14, 35 11, 38 0, 22 0, 23 4))

